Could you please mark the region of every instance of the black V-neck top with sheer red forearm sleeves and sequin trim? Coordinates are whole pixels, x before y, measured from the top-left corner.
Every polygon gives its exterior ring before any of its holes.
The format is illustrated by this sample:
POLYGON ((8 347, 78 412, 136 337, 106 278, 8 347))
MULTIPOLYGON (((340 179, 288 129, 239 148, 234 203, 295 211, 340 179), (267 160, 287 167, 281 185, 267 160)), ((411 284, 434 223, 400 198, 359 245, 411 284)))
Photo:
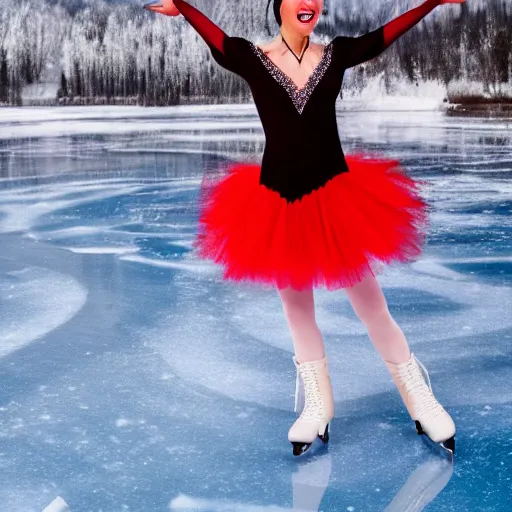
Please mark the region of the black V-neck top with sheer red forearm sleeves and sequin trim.
POLYGON ((349 171, 335 110, 345 70, 379 55, 439 3, 427 0, 359 37, 335 37, 324 47, 306 85, 298 89, 251 41, 226 35, 198 9, 184 0, 174 0, 217 63, 249 84, 266 139, 260 184, 288 201, 300 199, 349 171))

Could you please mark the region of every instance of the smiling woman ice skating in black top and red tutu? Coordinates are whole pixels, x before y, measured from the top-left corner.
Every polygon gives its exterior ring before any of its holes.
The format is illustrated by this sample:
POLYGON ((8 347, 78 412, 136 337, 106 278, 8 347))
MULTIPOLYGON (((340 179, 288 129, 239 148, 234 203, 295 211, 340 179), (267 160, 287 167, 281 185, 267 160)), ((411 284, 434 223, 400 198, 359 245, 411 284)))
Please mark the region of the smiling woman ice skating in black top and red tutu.
MULTIPOLYGON (((268 7, 267 5, 267 13, 268 7)), ((309 36, 323 0, 274 0, 280 34, 256 46, 229 37, 184 0, 146 9, 182 14, 214 59, 247 81, 266 137, 261 167, 232 165, 204 183, 199 256, 224 265, 224 278, 275 286, 294 343, 295 411, 288 432, 294 455, 329 439, 334 400, 313 288, 345 289, 389 369, 419 434, 451 454, 455 425, 432 394, 424 366, 391 317, 375 264, 419 256, 429 205, 398 162, 345 157, 335 101, 345 69, 382 53, 440 4, 422 5, 360 37, 323 46, 309 36)))

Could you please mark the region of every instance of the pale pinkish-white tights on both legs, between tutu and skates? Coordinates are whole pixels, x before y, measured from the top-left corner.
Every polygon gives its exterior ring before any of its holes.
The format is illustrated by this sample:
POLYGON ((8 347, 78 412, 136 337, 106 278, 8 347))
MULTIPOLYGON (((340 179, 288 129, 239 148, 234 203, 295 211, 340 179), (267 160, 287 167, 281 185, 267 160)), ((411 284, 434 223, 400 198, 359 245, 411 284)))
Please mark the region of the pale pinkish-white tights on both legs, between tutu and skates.
MULTIPOLYGON (((322 359, 325 356, 325 347, 316 324, 313 289, 276 289, 291 331, 297 361, 302 363, 322 359)), ((370 274, 355 286, 343 290, 381 357, 393 363, 407 361, 410 357, 409 345, 388 310, 375 276, 370 274)))

